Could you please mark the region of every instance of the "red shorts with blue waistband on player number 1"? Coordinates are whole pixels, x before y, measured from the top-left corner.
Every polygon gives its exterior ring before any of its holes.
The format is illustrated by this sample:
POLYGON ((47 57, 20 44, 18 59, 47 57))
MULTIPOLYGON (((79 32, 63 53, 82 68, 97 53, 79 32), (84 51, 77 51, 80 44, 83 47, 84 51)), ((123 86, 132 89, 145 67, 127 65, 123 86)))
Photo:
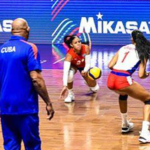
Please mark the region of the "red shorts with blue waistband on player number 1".
POLYGON ((128 72, 113 70, 108 76, 107 87, 111 90, 119 90, 132 85, 133 82, 128 72))

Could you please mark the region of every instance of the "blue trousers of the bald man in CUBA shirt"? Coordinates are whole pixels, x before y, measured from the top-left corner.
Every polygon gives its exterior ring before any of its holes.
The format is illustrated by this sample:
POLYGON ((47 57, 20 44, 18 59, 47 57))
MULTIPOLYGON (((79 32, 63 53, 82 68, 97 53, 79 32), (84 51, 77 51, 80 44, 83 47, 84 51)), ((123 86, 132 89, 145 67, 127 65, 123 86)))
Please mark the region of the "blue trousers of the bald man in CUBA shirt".
POLYGON ((38 114, 1 115, 5 150, 20 150, 23 140, 26 150, 41 150, 38 114))

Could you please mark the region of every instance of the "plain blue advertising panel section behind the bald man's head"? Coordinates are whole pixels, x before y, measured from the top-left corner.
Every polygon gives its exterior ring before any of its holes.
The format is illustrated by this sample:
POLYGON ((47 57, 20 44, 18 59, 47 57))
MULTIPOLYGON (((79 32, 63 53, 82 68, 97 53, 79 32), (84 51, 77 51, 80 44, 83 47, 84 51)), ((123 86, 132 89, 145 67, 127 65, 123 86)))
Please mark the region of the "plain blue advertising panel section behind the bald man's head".
MULTIPOLYGON (((50 8, 49 0, 1 0, 0 23, 3 20, 24 18, 31 27, 30 41, 50 44, 50 8)), ((0 43, 6 41, 10 33, 0 32, 0 43)))

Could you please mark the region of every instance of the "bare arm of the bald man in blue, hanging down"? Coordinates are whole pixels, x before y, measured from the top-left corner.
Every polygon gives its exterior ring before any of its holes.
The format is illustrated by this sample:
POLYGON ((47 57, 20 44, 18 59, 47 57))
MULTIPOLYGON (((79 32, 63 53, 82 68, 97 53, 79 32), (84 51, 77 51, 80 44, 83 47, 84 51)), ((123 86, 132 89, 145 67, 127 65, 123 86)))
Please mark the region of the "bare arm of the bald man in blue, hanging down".
POLYGON ((32 79, 32 83, 33 83, 35 90, 37 91, 37 93, 41 96, 41 98, 46 103, 48 119, 50 120, 51 118, 53 118, 54 109, 53 109, 52 103, 50 101, 50 97, 48 95, 44 79, 43 79, 41 73, 38 71, 31 71, 30 77, 32 79))

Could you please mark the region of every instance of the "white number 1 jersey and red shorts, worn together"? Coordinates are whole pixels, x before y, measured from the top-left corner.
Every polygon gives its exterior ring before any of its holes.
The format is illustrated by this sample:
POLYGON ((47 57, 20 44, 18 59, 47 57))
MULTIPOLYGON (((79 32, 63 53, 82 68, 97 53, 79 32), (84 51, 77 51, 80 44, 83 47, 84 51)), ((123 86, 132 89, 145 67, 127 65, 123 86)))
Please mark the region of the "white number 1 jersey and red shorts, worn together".
POLYGON ((138 68, 140 59, 135 45, 123 46, 118 53, 117 63, 110 72, 107 80, 108 88, 119 90, 132 85, 134 82, 131 75, 138 68))

